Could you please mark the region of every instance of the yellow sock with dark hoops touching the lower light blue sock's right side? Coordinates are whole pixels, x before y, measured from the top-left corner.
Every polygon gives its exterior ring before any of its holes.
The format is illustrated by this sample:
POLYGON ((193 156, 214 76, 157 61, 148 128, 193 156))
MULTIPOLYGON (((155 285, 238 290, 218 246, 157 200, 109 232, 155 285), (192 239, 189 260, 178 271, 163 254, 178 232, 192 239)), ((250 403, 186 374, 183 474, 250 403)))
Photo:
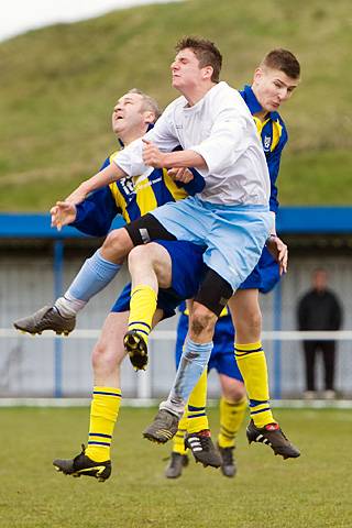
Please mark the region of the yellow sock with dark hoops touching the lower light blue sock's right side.
POLYGON ((204 429, 209 429, 208 417, 206 414, 207 405, 207 376, 208 371, 205 369, 201 374, 197 385, 193 389, 188 406, 187 406, 187 418, 188 418, 188 428, 187 432, 199 432, 204 429))

